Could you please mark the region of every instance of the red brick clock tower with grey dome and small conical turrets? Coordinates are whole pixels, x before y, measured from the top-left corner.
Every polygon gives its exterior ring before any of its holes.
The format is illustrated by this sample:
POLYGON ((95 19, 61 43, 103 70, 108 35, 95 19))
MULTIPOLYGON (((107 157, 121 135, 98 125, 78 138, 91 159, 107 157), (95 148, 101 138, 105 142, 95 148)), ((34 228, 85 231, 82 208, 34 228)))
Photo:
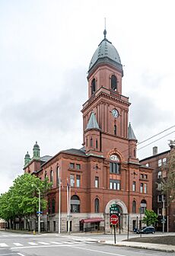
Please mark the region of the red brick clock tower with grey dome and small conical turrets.
POLYGON ((104 158, 115 153, 120 161, 138 162, 137 140, 128 123, 129 98, 122 95, 121 59, 107 40, 107 30, 103 35, 87 75, 88 100, 82 109, 85 151, 104 158))

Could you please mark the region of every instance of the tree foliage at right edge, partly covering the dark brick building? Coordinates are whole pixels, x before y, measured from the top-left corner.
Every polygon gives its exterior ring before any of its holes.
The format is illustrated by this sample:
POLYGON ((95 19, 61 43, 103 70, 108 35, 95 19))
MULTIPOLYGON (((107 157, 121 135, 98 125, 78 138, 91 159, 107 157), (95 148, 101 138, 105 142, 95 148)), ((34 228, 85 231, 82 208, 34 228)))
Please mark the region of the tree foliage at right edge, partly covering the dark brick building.
POLYGON ((175 149, 171 149, 167 155, 167 162, 162 167, 164 172, 161 184, 163 194, 169 197, 169 200, 175 200, 175 149))

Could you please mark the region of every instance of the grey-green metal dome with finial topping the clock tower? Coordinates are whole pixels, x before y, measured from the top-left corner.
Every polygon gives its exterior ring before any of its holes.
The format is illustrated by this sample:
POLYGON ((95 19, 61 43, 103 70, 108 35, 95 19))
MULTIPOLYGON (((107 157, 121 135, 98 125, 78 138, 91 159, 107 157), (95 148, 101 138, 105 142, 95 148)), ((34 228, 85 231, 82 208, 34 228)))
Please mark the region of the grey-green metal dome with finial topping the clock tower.
POLYGON ((115 66, 117 69, 122 71, 122 64, 119 57, 119 53, 117 52, 113 44, 109 40, 107 40, 106 29, 103 31, 103 34, 104 34, 104 38, 100 42, 97 50, 92 56, 92 59, 89 65, 89 71, 88 71, 89 74, 94 69, 94 67, 100 63, 109 63, 112 66, 115 66))

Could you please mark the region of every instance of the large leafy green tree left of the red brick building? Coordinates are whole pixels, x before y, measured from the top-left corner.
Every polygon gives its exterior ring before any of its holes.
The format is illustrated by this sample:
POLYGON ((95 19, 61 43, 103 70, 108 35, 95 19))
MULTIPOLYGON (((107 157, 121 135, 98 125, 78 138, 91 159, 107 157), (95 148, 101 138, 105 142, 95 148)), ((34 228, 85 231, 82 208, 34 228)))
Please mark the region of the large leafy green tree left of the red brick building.
POLYGON ((0 197, 0 217, 8 221, 9 219, 21 218, 30 219, 30 216, 37 218, 38 211, 38 191, 41 192, 41 209, 45 210, 47 201, 46 193, 52 187, 48 179, 41 181, 31 174, 23 174, 14 180, 13 186, 7 193, 0 197))

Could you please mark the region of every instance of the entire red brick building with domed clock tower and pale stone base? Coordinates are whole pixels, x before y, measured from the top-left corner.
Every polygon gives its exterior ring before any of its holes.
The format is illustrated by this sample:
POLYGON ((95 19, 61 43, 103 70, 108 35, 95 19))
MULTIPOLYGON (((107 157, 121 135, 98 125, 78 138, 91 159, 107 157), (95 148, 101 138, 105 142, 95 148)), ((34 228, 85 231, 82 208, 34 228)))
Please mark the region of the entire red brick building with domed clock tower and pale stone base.
MULTIPOLYGON (((71 185, 71 230, 105 229, 110 232, 110 206, 119 210, 120 229, 139 227, 140 207, 152 208, 152 170, 136 157, 137 139, 128 122, 129 98, 122 95, 122 64, 107 31, 88 70, 88 99, 83 114, 83 148, 40 157, 37 142, 33 158, 25 155, 24 173, 46 176, 53 182, 43 229, 59 230, 59 181, 61 232, 68 230, 67 181, 71 185), (129 218, 128 218, 129 216, 129 218)), ((143 215, 142 215, 143 216, 143 215)))

